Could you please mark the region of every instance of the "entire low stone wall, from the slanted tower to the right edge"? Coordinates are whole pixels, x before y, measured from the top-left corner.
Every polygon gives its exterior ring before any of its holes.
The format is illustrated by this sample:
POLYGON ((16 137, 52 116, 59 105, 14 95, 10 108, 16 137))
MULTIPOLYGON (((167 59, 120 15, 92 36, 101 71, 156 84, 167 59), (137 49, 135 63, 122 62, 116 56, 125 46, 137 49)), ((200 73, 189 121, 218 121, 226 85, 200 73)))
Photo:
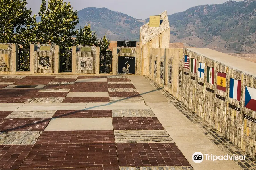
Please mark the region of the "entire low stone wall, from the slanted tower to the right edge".
POLYGON ((150 77, 255 158, 256 63, 203 48, 153 48, 149 60, 150 77))

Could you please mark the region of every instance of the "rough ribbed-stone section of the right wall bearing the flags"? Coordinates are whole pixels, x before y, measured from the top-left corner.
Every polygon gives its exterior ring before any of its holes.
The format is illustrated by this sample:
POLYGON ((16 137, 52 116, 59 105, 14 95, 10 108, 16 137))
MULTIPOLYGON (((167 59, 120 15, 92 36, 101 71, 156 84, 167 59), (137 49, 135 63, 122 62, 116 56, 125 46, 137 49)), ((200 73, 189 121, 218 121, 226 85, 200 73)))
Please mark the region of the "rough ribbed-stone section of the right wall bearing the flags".
POLYGON ((181 101, 255 158, 256 64, 210 49, 185 48, 185 56, 181 101))

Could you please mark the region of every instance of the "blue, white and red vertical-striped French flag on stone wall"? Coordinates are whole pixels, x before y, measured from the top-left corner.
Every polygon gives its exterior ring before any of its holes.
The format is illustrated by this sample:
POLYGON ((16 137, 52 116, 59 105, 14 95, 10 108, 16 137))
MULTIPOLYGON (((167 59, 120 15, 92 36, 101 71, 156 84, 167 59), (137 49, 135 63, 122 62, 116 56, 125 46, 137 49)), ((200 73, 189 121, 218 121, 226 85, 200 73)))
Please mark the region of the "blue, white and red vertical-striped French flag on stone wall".
POLYGON ((230 78, 230 92, 229 92, 229 97, 236 99, 238 101, 241 100, 241 80, 236 80, 233 78, 230 78))

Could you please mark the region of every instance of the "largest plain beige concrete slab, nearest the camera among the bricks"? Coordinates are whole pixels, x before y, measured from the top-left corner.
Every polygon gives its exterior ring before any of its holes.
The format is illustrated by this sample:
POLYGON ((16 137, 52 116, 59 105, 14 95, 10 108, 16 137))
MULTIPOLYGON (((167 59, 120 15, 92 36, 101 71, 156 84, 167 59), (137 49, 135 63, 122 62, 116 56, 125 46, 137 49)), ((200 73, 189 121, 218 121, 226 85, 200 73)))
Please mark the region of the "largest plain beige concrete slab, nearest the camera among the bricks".
POLYGON ((112 118, 52 118, 45 131, 113 130, 112 118))

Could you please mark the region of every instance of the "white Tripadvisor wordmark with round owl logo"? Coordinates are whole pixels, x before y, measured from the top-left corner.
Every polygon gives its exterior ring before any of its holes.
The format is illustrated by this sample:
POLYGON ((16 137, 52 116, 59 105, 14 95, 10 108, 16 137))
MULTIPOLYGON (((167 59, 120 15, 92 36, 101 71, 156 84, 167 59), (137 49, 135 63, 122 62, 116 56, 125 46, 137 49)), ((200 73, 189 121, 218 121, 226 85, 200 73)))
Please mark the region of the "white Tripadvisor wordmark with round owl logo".
POLYGON ((246 155, 229 155, 229 154, 226 154, 226 155, 213 155, 213 154, 202 154, 201 152, 195 152, 193 155, 192 155, 192 160, 195 162, 195 163, 201 163, 204 158, 205 160, 207 161, 216 161, 216 160, 245 160, 245 157, 246 155))

